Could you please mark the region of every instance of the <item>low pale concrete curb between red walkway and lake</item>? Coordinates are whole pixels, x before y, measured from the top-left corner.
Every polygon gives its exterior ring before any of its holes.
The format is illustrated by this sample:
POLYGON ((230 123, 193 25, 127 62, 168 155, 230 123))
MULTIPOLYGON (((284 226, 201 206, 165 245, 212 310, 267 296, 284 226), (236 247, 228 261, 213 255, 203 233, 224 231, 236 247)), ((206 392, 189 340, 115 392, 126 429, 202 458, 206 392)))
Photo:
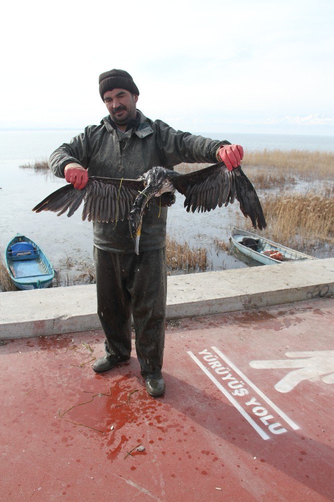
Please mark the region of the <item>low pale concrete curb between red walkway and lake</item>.
MULTIPOLYGON (((334 258, 171 276, 166 318, 221 314, 333 293, 334 258)), ((96 309, 95 285, 0 293, 0 339, 101 329, 96 309)))

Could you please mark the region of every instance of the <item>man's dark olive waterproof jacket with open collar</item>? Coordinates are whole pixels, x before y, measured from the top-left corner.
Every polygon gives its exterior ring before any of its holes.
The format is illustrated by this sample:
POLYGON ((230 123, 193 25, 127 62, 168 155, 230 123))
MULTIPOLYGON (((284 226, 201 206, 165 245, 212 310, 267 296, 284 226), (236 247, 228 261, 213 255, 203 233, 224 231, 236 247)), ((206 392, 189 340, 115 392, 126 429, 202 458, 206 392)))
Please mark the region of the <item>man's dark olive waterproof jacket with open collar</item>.
MULTIPOLYGON (((150 120, 139 110, 138 127, 122 133, 113 127, 110 117, 98 126, 88 126, 84 133, 64 143, 51 155, 52 172, 64 178, 67 164, 77 162, 89 176, 137 179, 154 166, 173 169, 181 162, 216 163, 216 152, 228 141, 217 141, 175 131, 161 120, 150 120)), ((167 209, 151 204, 146 210, 140 234, 139 251, 159 249, 165 245, 167 209)), ((94 223, 94 244, 112 252, 133 253, 128 221, 94 223)))

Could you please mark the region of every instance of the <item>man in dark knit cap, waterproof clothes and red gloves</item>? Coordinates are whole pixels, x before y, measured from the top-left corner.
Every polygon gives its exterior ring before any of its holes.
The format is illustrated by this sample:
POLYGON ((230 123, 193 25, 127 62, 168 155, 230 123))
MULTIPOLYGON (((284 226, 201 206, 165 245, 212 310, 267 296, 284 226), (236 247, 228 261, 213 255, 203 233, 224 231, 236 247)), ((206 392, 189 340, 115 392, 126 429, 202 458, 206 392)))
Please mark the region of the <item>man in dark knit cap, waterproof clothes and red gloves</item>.
MULTIPOLYGON (((154 166, 173 169, 181 162, 223 161, 230 170, 240 166, 241 146, 175 131, 161 120, 145 117, 136 109, 139 90, 126 71, 102 73, 99 92, 109 115, 50 157, 53 173, 65 177, 75 188, 84 188, 88 176, 137 179, 154 166)), ((146 210, 138 256, 127 221, 93 224, 97 309, 106 337, 106 355, 93 369, 106 371, 129 359, 132 312, 141 374, 153 397, 165 391, 161 367, 166 217, 167 209, 155 204, 146 210)))

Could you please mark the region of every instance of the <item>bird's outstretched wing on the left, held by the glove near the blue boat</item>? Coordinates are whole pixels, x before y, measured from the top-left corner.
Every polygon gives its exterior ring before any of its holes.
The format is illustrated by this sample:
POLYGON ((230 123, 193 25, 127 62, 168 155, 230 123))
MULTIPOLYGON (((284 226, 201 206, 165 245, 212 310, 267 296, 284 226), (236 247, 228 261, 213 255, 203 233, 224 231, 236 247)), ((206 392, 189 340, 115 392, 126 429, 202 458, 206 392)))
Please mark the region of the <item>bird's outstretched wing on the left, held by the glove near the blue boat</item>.
POLYGON ((105 223, 123 220, 130 214, 138 191, 143 189, 143 182, 139 180, 92 176, 82 190, 71 184, 65 185, 48 195, 33 211, 53 211, 60 216, 68 210, 67 216, 72 216, 84 201, 83 220, 105 223))

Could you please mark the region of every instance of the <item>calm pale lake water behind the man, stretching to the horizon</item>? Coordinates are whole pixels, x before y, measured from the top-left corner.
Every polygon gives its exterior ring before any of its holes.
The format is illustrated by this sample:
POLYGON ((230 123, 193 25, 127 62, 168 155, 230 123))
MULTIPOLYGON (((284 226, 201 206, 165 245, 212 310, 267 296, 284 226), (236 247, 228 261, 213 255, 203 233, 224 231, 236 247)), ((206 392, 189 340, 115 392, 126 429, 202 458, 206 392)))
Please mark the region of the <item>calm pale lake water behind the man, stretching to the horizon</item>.
MULTIPOLYGON (((65 180, 19 166, 49 157, 59 145, 78 133, 80 131, 0 131, 0 251, 3 252, 16 233, 26 234, 38 242, 56 269, 64 269, 69 276, 80 268, 78 264, 92 262, 92 225, 81 220, 80 210, 71 218, 57 217, 51 212, 33 213, 32 207, 64 185, 65 180), (66 269, 66 257, 73 262, 73 270, 66 269)), ((199 134, 228 139, 243 145, 246 150, 334 151, 333 137, 199 134)), ((255 265, 222 253, 213 245, 214 237, 227 242, 231 227, 240 221, 238 203, 210 213, 189 214, 183 207, 183 200, 183 196, 177 196, 176 203, 169 209, 168 233, 171 237, 180 242, 186 240, 191 246, 207 247, 209 270, 255 265)))

